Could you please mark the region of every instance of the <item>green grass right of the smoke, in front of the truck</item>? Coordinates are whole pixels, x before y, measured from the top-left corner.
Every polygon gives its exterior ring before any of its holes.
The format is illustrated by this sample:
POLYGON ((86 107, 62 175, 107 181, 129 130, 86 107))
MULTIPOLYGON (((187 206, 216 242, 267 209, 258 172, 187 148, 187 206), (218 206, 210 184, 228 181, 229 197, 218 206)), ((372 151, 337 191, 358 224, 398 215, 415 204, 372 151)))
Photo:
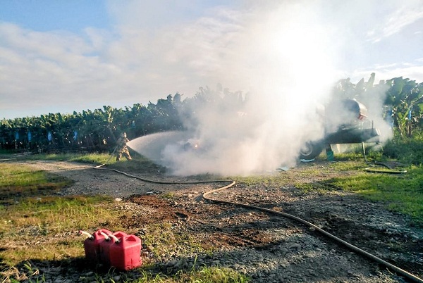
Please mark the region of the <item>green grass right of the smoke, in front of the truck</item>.
POLYGON ((407 168, 405 174, 388 174, 389 170, 383 167, 378 170, 385 172, 364 171, 369 165, 364 163, 362 155, 356 153, 338 153, 335 160, 337 162, 324 165, 316 163, 303 168, 290 168, 277 175, 233 177, 233 180, 248 187, 284 187, 294 184, 305 193, 353 191, 366 199, 383 202, 388 209, 409 215, 412 222, 423 225, 422 165, 407 168), (307 182, 307 177, 321 180, 307 182))

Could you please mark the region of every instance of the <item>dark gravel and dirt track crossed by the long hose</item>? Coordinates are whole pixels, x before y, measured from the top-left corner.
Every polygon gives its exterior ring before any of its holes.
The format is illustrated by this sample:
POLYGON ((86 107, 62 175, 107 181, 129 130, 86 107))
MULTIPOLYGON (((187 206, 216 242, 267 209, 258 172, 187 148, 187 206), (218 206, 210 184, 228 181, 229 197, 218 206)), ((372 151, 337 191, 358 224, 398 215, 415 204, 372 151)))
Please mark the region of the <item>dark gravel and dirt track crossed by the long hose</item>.
MULTIPOLYGON (((193 265, 216 265, 243 272, 251 278, 250 282, 411 282, 294 220, 202 199, 204 192, 219 184, 151 184, 80 163, 32 161, 25 165, 75 180, 73 186, 60 194, 116 197, 116 208, 135 212, 122 219, 123 226, 137 228, 141 238, 148 233, 144 228, 147 224, 170 222, 175 234, 189 233, 202 246, 216 249, 212 254, 192 253, 187 246, 174 246, 157 254, 154 246, 144 246, 143 260, 154 263, 154 272, 172 275, 178 270, 190 270, 193 265), (169 192, 170 199, 157 197, 169 192)), ((268 174, 290 174, 302 166, 307 164, 268 174)), ((321 168, 325 166, 321 164, 321 168)), ((176 180, 160 172, 131 174, 148 180, 176 180)), ((317 174, 298 181, 312 182, 317 178, 321 176, 317 174)), ((194 180, 185 178, 183 181, 194 180)), ((381 203, 343 191, 306 194, 293 185, 269 187, 264 184, 254 187, 236 184, 212 194, 212 198, 290 213, 423 277, 423 229, 413 227, 406 217, 386 210, 381 203)), ((44 270, 47 282, 95 282, 94 272, 90 270, 65 267, 57 267, 57 270, 56 273, 52 273, 51 268, 44 270)), ((116 273, 111 278, 120 282, 136 278, 139 272, 116 273)))

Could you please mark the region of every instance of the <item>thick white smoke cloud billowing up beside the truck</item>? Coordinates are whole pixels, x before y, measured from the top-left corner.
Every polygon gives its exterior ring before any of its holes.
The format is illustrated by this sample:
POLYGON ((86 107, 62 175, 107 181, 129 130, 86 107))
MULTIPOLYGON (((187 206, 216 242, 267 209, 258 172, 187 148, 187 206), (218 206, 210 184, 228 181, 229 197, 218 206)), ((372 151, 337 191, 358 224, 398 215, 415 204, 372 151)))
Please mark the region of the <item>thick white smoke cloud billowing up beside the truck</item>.
POLYGON ((209 50, 204 70, 214 69, 213 87, 204 93, 224 99, 188 103, 184 111, 195 123, 186 121, 185 133, 141 137, 129 146, 176 175, 250 175, 295 165, 302 144, 323 137, 318 106, 342 75, 334 62, 345 38, 319 13, 321 5, 309 2, 252 6, 248 13, 208 23, 208 37, 221 34, 219 29, 228 32, 194 47, 209 50), (214 87, 216 82, 223 88, 214 87))

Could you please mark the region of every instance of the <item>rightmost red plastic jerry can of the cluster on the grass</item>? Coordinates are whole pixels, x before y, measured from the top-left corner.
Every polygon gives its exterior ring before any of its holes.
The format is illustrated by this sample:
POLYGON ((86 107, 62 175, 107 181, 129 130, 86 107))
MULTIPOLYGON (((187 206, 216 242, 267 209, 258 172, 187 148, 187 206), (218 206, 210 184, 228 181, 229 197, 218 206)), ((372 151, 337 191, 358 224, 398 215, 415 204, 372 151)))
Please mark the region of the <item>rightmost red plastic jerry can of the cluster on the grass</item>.
POLYGON ((141 239, 135 235, 122 237, 110 246, 110 265, 118 270, 141 266, 141 239))

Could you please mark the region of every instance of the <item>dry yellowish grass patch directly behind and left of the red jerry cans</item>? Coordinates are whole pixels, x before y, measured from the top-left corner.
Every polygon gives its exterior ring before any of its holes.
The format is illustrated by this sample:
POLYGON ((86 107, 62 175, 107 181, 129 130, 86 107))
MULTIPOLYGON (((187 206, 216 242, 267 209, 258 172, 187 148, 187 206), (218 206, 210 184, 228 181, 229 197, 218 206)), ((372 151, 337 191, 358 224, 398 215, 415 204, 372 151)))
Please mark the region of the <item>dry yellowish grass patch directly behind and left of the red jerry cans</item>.
MULTIPOLYGON (((124 213, 118 211, 118 213, 124 213)), ((121 229, 113 200, 105 196, 49 196, 28 198, 0 209, 0 258, 9 266, 37 260, 83 256, 80 229, 93 232, 109 223, 121 229), (36 244, 43 239, 42 244, 36 244)))

